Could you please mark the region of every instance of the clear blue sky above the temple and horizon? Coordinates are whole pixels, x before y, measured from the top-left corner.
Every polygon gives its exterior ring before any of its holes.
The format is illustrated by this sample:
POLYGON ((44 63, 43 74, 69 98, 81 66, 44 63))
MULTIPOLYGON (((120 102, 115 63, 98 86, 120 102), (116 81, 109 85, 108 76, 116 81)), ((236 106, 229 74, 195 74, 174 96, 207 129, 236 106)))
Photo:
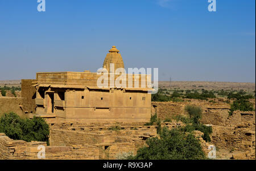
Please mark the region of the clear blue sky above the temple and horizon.
POLYGON ((0 0, 0 80, 97 71, 112 45, 159 80, 254 82, 255 0, 0 0))

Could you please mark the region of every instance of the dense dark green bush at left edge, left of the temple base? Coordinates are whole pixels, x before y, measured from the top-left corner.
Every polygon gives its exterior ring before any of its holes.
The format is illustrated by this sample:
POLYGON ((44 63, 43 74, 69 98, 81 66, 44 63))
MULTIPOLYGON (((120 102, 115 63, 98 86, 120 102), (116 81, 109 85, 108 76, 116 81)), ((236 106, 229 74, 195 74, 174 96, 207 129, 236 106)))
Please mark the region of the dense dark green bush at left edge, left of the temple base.
POLYGON ((0 132, 15 140, 47 142, 49 126, 43 118, 23 119, 11 112, 0 118, 0 132))

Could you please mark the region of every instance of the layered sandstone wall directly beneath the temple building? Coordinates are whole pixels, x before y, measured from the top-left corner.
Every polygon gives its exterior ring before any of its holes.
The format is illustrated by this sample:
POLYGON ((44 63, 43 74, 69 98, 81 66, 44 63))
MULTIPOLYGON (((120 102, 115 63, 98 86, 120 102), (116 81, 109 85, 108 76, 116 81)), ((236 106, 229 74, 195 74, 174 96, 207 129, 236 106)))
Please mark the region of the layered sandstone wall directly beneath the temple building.
POLYGON ((99 159, 116 159, 124 152, 132 152, 156 136, 158 126, 144 123, 52 123, 49 136, 51 146, 97 146, 99 159))

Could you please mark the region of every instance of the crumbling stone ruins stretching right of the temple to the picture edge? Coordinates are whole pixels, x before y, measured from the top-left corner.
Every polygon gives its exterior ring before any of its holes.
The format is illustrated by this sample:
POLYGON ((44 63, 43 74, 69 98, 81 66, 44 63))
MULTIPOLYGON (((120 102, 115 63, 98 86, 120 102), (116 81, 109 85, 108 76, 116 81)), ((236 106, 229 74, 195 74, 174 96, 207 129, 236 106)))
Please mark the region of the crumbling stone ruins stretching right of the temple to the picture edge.
MULTIPOLYGON (((205 144, 214 144, 217 153, 219 149, 228 152, 228 159, 255 159, 255 111, 237 110, 229 116, 229 104, 194 101, 152 102, 152 112, 162 119, 174 118, 177 114, 185 116, 186 104, 201 106, 201 122, 212 127, 211 142, 201 141, 202 147, 205 147, 205 144)), ((207 151, 207 148, 203 149, 207 151)))

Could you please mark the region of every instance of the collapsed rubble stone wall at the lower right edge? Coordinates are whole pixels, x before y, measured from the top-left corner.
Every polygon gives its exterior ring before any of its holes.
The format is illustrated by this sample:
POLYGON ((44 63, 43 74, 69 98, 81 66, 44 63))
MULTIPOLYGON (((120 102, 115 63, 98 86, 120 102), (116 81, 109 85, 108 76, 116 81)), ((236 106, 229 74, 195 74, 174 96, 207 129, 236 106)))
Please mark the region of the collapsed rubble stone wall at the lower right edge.
POLYGON ((234 159, 255 159, 255 111, 235 111, 224 125, 212 125, 212 143, 217 148, 240 151, 234 159))

